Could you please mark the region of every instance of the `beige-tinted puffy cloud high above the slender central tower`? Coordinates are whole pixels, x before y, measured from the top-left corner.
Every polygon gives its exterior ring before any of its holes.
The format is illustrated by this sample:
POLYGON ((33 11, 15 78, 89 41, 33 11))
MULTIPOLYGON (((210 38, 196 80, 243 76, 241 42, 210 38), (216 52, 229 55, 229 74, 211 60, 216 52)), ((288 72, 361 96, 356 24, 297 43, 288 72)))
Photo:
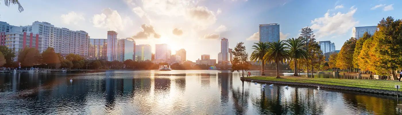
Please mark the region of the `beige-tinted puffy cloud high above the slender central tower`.
POLYGON ((206 29, 216 22, 215 14, 205 6, 190 8, 187 10, 187 13, 189 18, 192 19, 201 29, 206 29))

